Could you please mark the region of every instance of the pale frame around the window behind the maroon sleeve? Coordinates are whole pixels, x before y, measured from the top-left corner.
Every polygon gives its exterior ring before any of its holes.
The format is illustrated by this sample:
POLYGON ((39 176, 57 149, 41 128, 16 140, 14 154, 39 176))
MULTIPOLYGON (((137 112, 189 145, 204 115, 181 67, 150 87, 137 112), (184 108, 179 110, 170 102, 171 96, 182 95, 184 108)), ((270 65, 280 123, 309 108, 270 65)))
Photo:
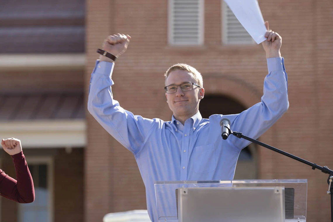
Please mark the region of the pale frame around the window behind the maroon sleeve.
MULTIPOLYGON (((25 159, 27 161, 27 164, 29 166, 29 164, 47 164, 48 165, 48 177, 47 177, 47 183, 48 183, 48 188, 49 188, 49 219, 47 222, 53 222, 54 219, 54 210, 53 210, 53 205, 54 205, 54 188, 53 188, 53 178, 54 178, 54 162, 53 162, 53 158, 52 157, 34 157, 34 156, 27 156, 24 155, 25 159)), ((18 204, 18 213, 20 213, 20 207, 21 204, 18 204)), ((20 221, 20 216, 18 218, 18 221, 20 221)))

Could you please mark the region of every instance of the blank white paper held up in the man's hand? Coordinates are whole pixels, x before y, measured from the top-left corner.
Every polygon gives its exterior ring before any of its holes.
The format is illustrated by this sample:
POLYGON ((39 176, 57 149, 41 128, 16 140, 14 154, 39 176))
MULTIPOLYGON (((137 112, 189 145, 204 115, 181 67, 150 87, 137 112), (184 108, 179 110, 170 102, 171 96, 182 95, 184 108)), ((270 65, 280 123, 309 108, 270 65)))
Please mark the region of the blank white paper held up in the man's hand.
POLYGON ((240 24, 259 44, 265 41, 265 21, 262 17, 257 0, 224 0, 240 24))

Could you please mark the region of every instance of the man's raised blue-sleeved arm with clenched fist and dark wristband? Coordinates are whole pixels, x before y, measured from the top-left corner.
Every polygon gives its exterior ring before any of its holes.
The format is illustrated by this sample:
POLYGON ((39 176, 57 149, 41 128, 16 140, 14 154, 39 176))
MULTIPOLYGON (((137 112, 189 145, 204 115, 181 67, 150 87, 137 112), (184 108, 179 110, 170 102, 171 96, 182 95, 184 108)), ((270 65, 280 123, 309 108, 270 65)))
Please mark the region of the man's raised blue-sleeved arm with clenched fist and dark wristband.
MULTIPOLYGON (((130 39, 122 34, 109 36, 102 50, 119 57, 127 50, 130 39)), ((135 154, 142 148, 154 120, 133 115, 114 100, 111 90, 114 65, 114 60, 103 55, 97 60, 90 80, 88 110, 105 130, 135 154)))

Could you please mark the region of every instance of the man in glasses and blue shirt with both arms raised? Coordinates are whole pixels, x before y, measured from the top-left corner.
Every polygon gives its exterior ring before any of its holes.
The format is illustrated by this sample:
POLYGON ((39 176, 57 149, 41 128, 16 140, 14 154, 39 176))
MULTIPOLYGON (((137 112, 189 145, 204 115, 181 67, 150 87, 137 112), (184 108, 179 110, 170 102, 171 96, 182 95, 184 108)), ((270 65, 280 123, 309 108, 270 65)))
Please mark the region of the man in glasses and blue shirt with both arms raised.
MULTIPOLYGON (((268 22, 265 23, 268 28, 268 22)), ((92 73, 88 110, 137 161, 146 186, 147 209, 158 221, 154 181, 232 180, 238 155, 249 142, 221 138, 219 122, 228 118, 230 127, 258 138, 288 109, 287 75, 280 54, 282 39, 268 30, 262 43, 268 75, 261 102, 240 114, 212 115, 202 119, 199 102, 204 97, 202 77, 196 69, 177 64, 166 72, 165 89, 172 121, 146 119, 124 110, 114 100, 111 86, 114 61, 101 55, 92 73)), ((120 56, 129 44, 128 35, 109 36, 102 49, 120 56)))

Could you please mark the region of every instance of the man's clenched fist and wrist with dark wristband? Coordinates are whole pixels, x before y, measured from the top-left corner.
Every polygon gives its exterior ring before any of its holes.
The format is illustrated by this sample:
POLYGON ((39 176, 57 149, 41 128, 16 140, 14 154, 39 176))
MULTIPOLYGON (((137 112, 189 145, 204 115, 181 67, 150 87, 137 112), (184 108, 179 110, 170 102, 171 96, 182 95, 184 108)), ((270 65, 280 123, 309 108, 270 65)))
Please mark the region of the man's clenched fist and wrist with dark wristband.
MULTIPOLYGON (((126 52, 128 44, 130 43, 130 39, 131 36, 119 33, 116 35, 108 36, 108 38, 106 38, 102 44, 102 50, 119 57, 126 52)), ((112 59, 104 55, 100 55, 100 60, 114 62, 112 59)))

